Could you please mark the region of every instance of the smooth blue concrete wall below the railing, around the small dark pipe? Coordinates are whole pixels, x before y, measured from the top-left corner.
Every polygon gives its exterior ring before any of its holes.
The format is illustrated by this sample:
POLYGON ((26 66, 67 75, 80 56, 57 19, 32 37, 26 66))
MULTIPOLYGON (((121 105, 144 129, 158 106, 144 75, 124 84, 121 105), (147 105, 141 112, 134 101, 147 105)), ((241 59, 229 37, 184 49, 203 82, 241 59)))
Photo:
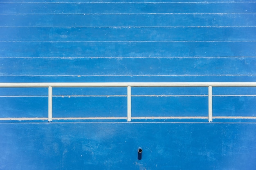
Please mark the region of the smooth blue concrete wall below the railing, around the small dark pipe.
POLYGON ((255 128, 228 123, 0 124, 0 169, 253 170, 255 128))

